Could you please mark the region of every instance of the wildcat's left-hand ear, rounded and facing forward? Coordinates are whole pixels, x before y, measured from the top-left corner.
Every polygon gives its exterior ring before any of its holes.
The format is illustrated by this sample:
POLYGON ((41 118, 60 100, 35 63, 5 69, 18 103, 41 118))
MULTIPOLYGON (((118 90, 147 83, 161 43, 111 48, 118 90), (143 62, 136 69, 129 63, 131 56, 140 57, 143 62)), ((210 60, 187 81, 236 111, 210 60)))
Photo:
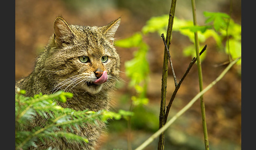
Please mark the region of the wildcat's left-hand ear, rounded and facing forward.
POLYGON ((70 44, 74 33, 62 17, 57 17, 54 21, 54 40, 58 45, 70 44))

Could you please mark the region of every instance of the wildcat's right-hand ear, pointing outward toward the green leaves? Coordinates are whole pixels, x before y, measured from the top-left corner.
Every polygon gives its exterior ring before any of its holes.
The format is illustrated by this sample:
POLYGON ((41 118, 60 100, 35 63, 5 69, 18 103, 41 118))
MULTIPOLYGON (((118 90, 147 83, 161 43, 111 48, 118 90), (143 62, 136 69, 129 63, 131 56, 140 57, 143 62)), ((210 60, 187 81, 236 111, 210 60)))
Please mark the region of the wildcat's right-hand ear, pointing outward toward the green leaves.
POLYGON ((111 44, 113 44, 114 35, 116 33, 117 28, 120 25, 120 22, 121 22, 121 18, 118 18, 113 22, 111 22, 110 24, 103 27, 103 34, 110 41, 111 44))

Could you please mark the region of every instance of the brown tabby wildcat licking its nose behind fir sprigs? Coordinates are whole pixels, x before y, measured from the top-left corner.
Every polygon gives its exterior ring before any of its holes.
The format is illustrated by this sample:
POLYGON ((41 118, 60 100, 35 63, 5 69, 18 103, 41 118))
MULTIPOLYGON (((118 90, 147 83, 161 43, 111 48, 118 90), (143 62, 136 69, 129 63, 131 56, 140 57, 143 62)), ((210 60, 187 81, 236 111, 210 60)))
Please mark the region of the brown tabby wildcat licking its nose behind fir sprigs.
MULTIPOLYGON (((63 17, 56 17, 54 34, 45 51, 37 57, 35 68, 29 76, 16 82, 17 88, 26 90, 26 96, 42 92, 51 94, 62 90, 73 93, 63 108, 77 111, 108 110, 109 94, 119 78, 120 57, 113 46, 114 34, 121 18, 103 27, 68 25, 63 17)), ((40 125, 40 120, 35 122, 40 125)), ((57 142, 38 143, 37 149, 50 146, 56 149, 94 149, 104 123, 86 124, 76 134, 85 136, 88 143, 57 142)))

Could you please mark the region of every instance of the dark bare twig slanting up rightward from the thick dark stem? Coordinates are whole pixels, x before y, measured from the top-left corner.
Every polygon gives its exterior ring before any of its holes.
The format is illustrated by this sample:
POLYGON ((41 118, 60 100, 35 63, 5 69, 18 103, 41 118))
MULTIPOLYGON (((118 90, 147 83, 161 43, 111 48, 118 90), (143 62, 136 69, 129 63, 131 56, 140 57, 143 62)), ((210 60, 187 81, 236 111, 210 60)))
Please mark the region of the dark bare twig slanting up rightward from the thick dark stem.
MULTIPOLYGON (((199 55, 201 55, 201 54, 206 50, 206 47, 207 47, 207 45, 205 45, 205 46, 203 47, 203 49, 201 50, 201 52, 199 53, 199 55)), ((168 119, 168 114, 169 114, 170 108, 171 108, 171 106, 172 106, 172 102, 173 102, 173 100, 174 100, 174 98, 175 98, 175 96, 176 96, 176 93, 177 93, 178 90, 180 89, 181 83, 182 83, 183 80, 185 79, 186 75, 189 73, 189 71, 190 71, 190 69, 192 68, 192 66, 194 65, 195 61, 196 61, 196 57, 194 57, 194 58, 192 59, 192 61, 189 63, 189 66, 188 66, 188 68, 186 69, 186 72, 184 73, 184 75, 182 76, 180 82, 178 83, 177 87, 175 87, 175 89, 174 89, 174 91, 173 91, 173 93, 172 93, 172 97, 171 97, 171 99, 170 99, 170 101, 169 101, 169 104, 168 104, 168 106, 166 106, 165 123, 166 123, 166 121, 167 121, 167 119, 168 119)))

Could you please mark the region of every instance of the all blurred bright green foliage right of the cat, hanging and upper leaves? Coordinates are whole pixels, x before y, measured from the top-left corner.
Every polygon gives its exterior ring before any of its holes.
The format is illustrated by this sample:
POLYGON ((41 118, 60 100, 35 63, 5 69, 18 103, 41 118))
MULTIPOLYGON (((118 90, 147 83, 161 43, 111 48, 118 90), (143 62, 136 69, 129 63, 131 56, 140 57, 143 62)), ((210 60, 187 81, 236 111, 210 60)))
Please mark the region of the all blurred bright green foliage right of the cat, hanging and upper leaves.
MULTIPOLYGON (((195 32, 198 33, 199 49, 203 48, 203 43, 213 38, 216 42, 217 48, 220 51, 224 51, 231 58, 240 58, 241 56, 241 25, 234 23, 231 17, 225 13, 204 12, 206 20, 205 25, 194 26, 191 20, 183 20, 177 17, 174 18, 173 31, 178 31, 182 35, 189 38, 192 45, 183 49, 184 56, 196 56, 195 55, 195 32), (232 32, 229 32, 232 31, 232 32), (224 43, 224 45, 223 45, 224 43)), ((125 72, 127 77, 130 78, 129 85, 134 88, 136 95, 131 97, 134 108, 134 116, 132 121, 136 127, 145 128, 146 125, 142 122, 149 122, 147 118, 148 112, 144 109, 144 104, 148 103, 146 98, 146 85, 149 78, 149 63, 147 62, 146 55, 149 50, 146 42, 143 41, 143 36, 147 36, 149 33, 157 33, 161 35, 167 29, 169 15, 162 15, 150 18, 142 30, 133 34, 126 39, 117 40, 116 46, 123 48, 138 48, 134 52, 134 58, 125 62, 125 72), (141 111, 142 110, 142 111, 141 111), (141 116, 143 114, 143 116, 141 116), (141 122, 138 119, 142 119, 141 122)), ((201 55, 203 60, 206 56, 206 52, 201 55)), ((230 58, 230 57, 229 57, 230 58)), ((238 59, 238 64, 241 64, 241 60, 238 59)), ((230 59, 230 62, 232 59, 230 59)), ((132 107, 131 107, 132 108, 132 107)), ((152 115, 152 114, 151 114, 152 115)), ((154 127, 147 127, 154 128, 154 127)))

